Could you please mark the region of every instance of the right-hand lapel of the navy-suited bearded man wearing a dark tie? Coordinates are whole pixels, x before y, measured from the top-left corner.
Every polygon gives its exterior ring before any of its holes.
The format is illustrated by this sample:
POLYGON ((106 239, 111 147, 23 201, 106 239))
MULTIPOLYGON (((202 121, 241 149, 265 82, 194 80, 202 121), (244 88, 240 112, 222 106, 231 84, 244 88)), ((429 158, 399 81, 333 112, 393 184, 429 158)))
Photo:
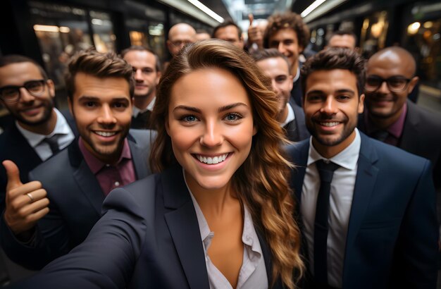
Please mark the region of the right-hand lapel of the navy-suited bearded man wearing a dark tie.
MULTIPOLYGON (((378 156, 371 145, 371 140, 363 133, 360 133, 360 136, 361 147, 356 172, 354 196, 352 197, 351 214, 349 215, 343 264, 348 264, 348 258, 351 256, 351 250, 356 240, 356 235, 358 234, 361 223, 366 215, 373 187, 375 186, 378 176, 378 168, 375 166, 378 156)), ((345 280, 350 278, 350 276, 347 275, 347 271, 348 268, 343 266, 343 287, 345 280)))

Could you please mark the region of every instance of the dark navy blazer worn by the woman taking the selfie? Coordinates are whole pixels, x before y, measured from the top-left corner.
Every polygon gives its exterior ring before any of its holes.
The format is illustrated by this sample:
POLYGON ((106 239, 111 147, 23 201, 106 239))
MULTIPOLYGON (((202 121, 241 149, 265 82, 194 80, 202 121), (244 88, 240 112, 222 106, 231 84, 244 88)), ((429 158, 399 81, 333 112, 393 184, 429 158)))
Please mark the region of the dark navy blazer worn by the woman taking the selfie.
MULTIPOLYGON (((256 230, 271 283, 271 254, 256 230)), ((182 168, 174 166, 104 201, 104 215, 70 254, 14 288, 206 288, 204 247, 182 168)), ((274 288, 282 288, 280 280, 274 288)))

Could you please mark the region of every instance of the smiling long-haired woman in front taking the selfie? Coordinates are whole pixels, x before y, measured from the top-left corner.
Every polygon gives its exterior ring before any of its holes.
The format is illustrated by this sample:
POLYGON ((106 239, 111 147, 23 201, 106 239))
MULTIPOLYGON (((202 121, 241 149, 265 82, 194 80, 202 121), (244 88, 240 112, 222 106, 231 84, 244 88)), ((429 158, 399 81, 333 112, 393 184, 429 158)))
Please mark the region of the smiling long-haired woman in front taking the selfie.
POLYGON ((157 174, 113 190, 87 240, 25 286, 295 288, 291 165, 269 87, 232 44, 185 47, 159 82, 157 174))

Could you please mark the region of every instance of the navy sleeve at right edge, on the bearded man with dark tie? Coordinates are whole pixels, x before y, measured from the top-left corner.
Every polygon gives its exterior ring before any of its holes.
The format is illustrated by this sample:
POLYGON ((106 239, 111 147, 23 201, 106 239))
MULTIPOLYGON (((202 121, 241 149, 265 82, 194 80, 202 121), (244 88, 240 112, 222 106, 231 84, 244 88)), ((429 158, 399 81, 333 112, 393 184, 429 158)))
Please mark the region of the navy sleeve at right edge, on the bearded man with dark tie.
POLYGON ((409 202, 397 245, 395 280, 397 288, 435 288, 438 268, 438 225, 430 161, 423 171, 409 202))

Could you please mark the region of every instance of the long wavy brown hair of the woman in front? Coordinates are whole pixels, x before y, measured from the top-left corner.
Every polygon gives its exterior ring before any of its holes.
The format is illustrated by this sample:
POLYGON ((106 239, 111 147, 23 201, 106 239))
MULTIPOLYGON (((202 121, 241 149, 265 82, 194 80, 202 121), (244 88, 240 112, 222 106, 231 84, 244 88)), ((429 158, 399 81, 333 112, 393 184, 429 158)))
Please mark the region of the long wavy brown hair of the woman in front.
POLYGON ((278 100, 271 90, 271 80, 242 49, 212 39, 185 47, 171 61, 156 95, 153 118, 158 136, 151 150, 151 168, 159 172, 177 163, 170 153, 171 140, 165 127, 171 90, 183 75, 202 68, 228 70, 247 90, 258 132, 253 137, 249 156, 232 176, 232 188, 271 248, 271 285, 280 277, 287 288, 296 288, 304 264, 299 256, 300 233, 293 218, 294 200, 287 182, 292 164, 283 156, 282 145, 286 140, 276 121, 278 100))

